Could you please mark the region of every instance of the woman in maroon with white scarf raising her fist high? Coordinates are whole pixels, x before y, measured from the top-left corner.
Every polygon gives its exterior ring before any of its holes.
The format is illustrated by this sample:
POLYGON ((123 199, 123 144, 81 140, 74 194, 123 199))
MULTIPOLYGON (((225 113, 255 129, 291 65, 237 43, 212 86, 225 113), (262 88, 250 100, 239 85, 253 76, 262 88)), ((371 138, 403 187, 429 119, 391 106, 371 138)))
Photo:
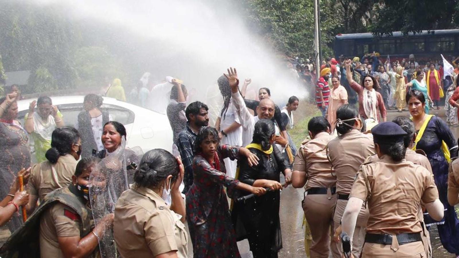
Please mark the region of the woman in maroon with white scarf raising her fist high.
POLYGON ((365 119, 373 118, 378 122, 386 121, 386 106, 381 93, 377 92, 379 86, 377 80, 367 74, 362 76, 362 82, 358 84, 352 78, 351 60, 345 62, 346 77, 349 85, 358 94, 358 112, 365 119), (363 86, 362 86, 363 85, 363 86))

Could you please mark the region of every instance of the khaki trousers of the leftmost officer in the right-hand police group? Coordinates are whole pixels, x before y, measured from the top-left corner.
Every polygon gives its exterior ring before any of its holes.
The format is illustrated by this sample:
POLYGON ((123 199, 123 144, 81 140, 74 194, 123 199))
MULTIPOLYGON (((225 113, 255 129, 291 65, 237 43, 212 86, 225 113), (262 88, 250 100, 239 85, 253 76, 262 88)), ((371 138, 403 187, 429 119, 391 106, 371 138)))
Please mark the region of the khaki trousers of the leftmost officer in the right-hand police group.
POLYGON ((329 258, 330 246, 333 257, 340 255, 333 237, 330 237, 330 230, 331 236, 335 233, 333 212, 336 196, 331 195, 329 188, 327 194, 309 194, 304 198, 303 211, 313 238, 309 248, 311 258, 329 258))

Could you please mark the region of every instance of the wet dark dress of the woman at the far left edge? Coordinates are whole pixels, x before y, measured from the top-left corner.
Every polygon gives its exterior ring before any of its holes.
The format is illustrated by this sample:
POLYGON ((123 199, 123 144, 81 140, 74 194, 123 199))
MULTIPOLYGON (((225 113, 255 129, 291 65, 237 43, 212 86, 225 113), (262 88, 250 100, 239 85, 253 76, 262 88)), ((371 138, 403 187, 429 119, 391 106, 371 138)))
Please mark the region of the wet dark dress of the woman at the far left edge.
MULTIPOLYGON (((0 122, 0 198, 4 198, 22 168, 30 167, 28 134, 17 123, 0 122)), ((21 211, 19 211, 21 213, 21 211)), ((15 213, 8 222, 11 232, 22 225, 22 218, 15 213)))

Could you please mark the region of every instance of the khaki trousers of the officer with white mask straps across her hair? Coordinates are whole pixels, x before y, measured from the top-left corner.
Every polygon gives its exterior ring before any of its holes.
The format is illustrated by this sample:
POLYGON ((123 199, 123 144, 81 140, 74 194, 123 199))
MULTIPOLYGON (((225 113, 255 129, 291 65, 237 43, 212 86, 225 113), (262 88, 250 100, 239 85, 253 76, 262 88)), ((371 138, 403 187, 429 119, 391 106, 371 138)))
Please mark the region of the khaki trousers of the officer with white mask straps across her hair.
MULTIPOLYGON (((335 230, 340 226, 341 217, 343 216, 346 205, 347 200, 336 201, 335 216, 333 217, 335 223, 335 230)), ((362 247, 364 246, 365 241, 365 229, 367 227, 368 217, 368 209, 362 206, 360 212, 358 213, 357 223, 355 224, 354 236, 352 240, 352 254, 354 255, 354 257, 360 257, 360 253, 362 252, 362 247)), ((335 243, 335 245, 337 246, 337 249, 340 252, 339 258, 341 258, 341 255, 343 254, 341 241, 339 243, 335 243)))

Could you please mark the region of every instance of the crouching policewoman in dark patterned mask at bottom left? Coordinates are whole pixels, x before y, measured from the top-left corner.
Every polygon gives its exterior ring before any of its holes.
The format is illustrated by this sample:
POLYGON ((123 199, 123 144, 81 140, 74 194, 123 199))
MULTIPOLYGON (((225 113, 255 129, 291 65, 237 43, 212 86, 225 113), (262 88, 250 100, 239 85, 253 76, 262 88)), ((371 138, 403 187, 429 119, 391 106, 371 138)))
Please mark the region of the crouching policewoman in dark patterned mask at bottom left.
POLYGON ((88 185, 92 169, 99 160, 90 157, 79 161, 72 183, 46 196, 28 223, 1 247, 1 256, 97 257, 99 239, 113 223, 113 213, 97 226, 92 218, 88 185))

